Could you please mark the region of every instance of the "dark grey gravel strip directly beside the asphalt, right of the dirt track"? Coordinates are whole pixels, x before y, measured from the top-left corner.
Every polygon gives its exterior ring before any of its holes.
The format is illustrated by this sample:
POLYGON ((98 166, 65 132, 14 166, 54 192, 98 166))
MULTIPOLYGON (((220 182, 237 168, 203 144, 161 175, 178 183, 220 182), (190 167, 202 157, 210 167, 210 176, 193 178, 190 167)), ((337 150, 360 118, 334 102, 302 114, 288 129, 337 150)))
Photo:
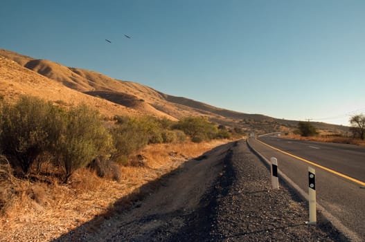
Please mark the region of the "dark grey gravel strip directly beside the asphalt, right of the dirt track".
POLYGON ((215 241, 347 241, 321 214, 308 226, 308 203, 287 185, 271 189, 269 169, 246 144, 233 149, 227 160, 226 184, 218 194, 215 241), (231 173, 231 174, 230 174, 231 173))

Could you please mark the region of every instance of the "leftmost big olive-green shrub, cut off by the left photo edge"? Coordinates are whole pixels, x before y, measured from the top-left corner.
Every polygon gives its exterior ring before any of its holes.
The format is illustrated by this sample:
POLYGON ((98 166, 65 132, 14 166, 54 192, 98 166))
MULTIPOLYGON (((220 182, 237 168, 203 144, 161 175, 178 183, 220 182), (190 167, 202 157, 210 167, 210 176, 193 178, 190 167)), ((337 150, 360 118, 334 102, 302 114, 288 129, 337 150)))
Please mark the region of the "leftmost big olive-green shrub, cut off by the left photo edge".
POLYGON ((14 105, 3 103, 1 109, 0 146, 13 167, 28 173, 33 162, 53 151, 61 136, 64 112, 37 97, 22 96, 14 105))

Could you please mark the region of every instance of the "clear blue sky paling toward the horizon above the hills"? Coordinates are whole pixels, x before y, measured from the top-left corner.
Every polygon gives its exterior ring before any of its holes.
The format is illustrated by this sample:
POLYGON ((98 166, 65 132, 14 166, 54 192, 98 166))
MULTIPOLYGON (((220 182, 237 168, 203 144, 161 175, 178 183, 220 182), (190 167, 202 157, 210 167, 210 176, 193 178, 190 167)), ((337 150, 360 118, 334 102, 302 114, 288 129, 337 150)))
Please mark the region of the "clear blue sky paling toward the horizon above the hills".
POLYGON ((0 48, 244 113, 365 113, 363 0, 2 1, 0 48))

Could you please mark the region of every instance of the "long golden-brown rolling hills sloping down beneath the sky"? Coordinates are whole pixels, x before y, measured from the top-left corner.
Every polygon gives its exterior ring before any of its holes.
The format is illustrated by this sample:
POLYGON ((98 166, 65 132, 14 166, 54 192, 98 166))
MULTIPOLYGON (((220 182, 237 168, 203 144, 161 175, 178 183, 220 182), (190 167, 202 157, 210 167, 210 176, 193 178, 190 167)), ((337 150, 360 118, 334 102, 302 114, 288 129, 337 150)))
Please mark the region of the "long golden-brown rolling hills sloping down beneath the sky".
MULTIPOLYGON (((219 124, 265 131, 286 131, 298 121, 266 115, 239 113, 209 104, 161 93, 136 82, 115 80, 95 71, 63 66, 0 49, 0 94, 14 100, 35 95, 64 106, 84 102, 103 115, 154 115, 179 120, 195 115, 219 124)), ((348 127, 321 122, 319 129, 346 131, 348 127)))

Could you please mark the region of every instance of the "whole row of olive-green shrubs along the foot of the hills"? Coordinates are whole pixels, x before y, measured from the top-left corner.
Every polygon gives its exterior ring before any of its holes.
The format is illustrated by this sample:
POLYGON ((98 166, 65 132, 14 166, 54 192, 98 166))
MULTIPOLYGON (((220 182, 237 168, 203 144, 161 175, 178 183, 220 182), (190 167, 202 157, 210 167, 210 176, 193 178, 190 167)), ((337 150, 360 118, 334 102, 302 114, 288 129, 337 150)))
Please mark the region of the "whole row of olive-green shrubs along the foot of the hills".
POLYGON ((118 116, 107 128, 99 113, 84 104, 64 109, 28 96, 15 104, 1 100, 0 118, 0 151, 18 171, 15 174, 21 177, 39 173, 46 161, 55 170, 63 167, 64 182, 87 166, 99 176, 115 179, 118 172, 108 173, 115 170, 111 169, 114 162, 128 165, 129 156, 146 145, 181 143, 187 136, 193 142, 232 136, 232 131, 222 125, 217 127, 206 118, 193 117, 172 122, 152 116, 118 116))

